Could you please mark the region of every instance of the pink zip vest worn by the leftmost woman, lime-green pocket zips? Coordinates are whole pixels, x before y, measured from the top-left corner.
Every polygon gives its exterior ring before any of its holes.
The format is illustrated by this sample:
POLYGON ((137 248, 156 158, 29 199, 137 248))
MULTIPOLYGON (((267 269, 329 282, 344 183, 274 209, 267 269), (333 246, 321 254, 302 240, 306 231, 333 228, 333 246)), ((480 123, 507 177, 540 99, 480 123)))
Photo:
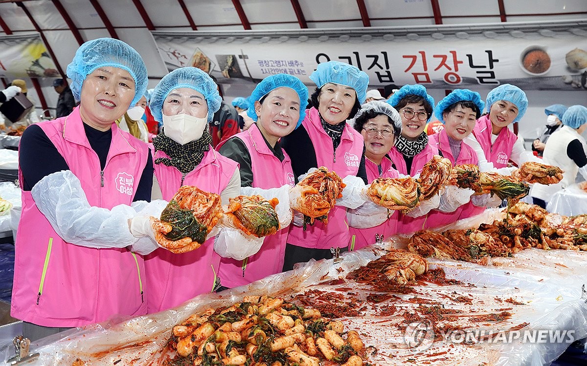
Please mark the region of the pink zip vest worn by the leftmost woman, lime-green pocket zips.
MULTIPOLYGON (((102 171, 79 107, 68 117, 38 125, 79 178, 90 205, 110 209, 132 203, 149 157, 146 143, 113 123, 102 171)), ((19 176, 22 189, 21 172, 19 176)), ((147 312, 143 258, 126 248, 86 248, 63 241, 30 191, 22 191, 15 248, 11 314, 17 319, 46 327, 78 327, 147 312)))

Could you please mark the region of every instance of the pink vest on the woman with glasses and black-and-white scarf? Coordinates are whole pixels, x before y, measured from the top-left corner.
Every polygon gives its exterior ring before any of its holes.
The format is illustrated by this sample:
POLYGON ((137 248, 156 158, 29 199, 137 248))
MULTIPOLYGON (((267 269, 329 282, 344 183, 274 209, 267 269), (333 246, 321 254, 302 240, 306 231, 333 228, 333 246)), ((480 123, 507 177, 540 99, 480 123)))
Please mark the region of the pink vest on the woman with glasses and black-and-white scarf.
MULTIPOLYGON (((397 150, 395 146, 389 151, 389 156, 392 158, 393 163, 397 167, 397 171, 403 175, 414 176, 422 171, 422 167, 432 159, 434 155, 438 154, 438 149, 430 143, 426 145, 426 148, 419 154, 414 156, 411 163, 410 172, 407 172, 406 160, 403 158, 403 154, 397 150)), ((426 215, 421 217, 409 217, 402 213, 398 213, 398 232, 410 233, 418 230, 422 230, 426 223, 426 215)))

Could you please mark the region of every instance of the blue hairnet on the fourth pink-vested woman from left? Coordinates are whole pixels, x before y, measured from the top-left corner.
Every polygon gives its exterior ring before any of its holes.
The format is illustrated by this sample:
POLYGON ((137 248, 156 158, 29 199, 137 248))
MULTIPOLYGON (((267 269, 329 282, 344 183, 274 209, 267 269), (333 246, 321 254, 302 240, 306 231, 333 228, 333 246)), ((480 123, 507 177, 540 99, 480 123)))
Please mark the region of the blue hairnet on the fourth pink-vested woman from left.
POLYGON ((339 61, 328 61, 316 66, 316 71, 310 75, 310 80, 322 88, 326 83, 346 85, 355 89, 360 104, 367 98, 369 76, 356 66, 339 61))

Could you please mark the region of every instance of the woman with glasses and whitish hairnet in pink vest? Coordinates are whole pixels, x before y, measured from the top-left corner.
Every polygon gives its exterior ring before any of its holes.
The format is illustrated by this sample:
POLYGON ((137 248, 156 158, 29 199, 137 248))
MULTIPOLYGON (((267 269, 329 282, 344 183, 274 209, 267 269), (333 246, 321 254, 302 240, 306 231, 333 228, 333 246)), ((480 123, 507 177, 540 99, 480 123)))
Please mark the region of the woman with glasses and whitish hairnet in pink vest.
MULTIPOLYGON (((367 182, 383 178, 397 178, 399 173, 389 158, 389 150, 402 133, 402 118, 399 113, 384 101, 371 101, 363 104, 353 119, 354 127, 365 139, 365 170, 367 182)), ((357 208, 360 210, 361 208, 357 208)), ((386 210, 387 211, 387 210, 386 210)), ((396 211, 380 225, 357 229, 350 227, 352 235, 351 250, 357 250, 373 244, 376 235, 389 238, 397 233, 396 211)))

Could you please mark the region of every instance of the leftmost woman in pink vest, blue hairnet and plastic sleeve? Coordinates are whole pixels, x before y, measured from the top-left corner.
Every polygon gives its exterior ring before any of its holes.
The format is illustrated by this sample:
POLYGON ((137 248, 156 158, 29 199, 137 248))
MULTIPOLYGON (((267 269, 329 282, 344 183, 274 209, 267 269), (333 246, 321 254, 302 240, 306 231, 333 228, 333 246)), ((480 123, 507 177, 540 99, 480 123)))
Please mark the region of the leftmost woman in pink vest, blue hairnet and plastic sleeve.
POLYGON ((79 107, 29 126, 19 149, 11 314, 32 340, 147 312, 143 258, 126 247, 130 205, 150 199, 153 164, 114 122, 143 96, 146 67, 126 43, 101 38, 80 46, 67 73, 79 107))

